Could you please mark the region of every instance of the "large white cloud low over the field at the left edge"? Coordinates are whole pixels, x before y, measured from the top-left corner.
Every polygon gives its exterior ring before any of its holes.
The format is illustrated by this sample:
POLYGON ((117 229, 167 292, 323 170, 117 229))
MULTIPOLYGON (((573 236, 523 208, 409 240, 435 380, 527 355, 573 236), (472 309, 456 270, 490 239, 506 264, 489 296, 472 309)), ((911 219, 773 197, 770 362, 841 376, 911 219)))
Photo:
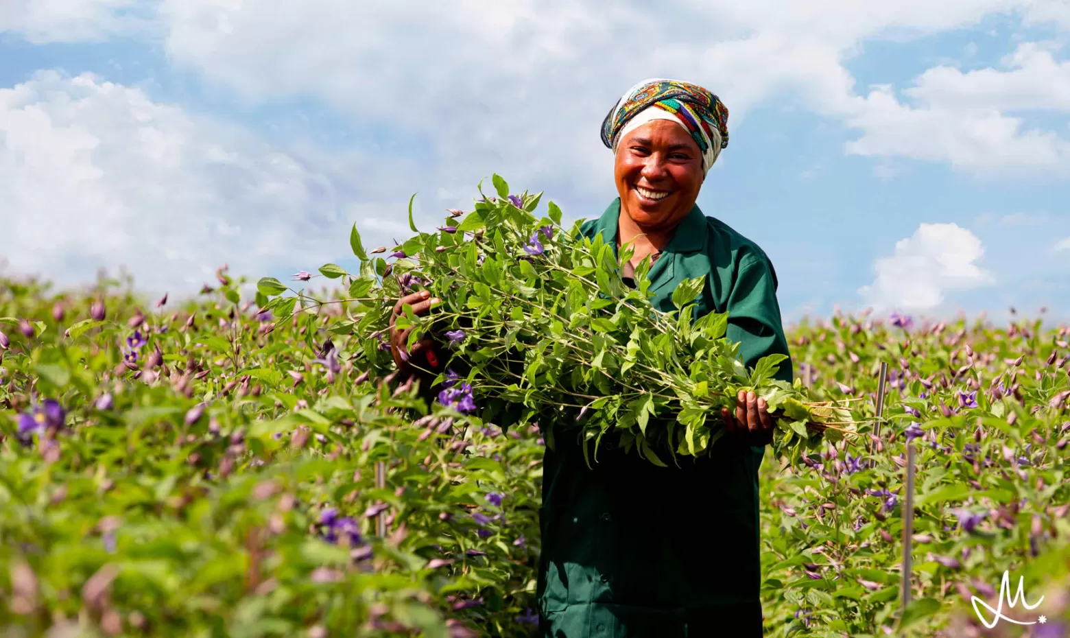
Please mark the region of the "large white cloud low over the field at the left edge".
POLYGON ((399 208, 389 174, 411 170, 275 148, 138 89, 43 72, 0 90, 0 256, 60 285, 126 267, 139 288, 175 292, 224 262, 254 277, 314 270, 347 256, 353 215, 399 208), (353 208, 345 176, 371 167, 380 182, 353 208))

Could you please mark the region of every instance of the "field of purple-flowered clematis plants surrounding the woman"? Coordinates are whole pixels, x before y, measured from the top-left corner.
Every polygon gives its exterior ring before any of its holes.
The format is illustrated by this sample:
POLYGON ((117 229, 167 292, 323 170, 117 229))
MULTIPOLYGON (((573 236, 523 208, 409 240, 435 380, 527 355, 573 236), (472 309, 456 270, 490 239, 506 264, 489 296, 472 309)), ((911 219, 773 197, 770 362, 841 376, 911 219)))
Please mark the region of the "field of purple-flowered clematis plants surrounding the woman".
MULTIPOLYGON (((434 245, 366 250, 354 230, 364 272, 286 284, 221 268, 146 299, 0 279, 3 635, 535 635, 538 411, 503 428, 477 374, 399 379, 369 306, 433 286, 413 254, 473 240, 462 217, 434 245)), ((532 222, 505 246, 524 272, 565 234, 532 222)), ((1070 635, 1070 326, 1042 319, 790 326, 788 390, 847 406, 850 427, 763 462, 767 636, 1070 635), (979 618, 1005 573, 1043 596, 1004 605, 1033 624, 979 618)), ((446 325, 444 350, 477 352, 480 330, 446 325)))

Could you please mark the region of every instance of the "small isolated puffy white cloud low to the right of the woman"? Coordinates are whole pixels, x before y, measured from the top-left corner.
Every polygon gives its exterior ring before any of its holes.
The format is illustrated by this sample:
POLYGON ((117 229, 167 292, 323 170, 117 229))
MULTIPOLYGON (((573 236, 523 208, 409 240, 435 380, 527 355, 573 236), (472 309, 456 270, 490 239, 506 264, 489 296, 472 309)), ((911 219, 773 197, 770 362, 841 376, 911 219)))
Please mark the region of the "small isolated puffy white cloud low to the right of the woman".
POLYGON ((994 283, 977 263, 983 255, 981 241, 969 230, 957 224, 921 224, 896 243, 890 257, 875 260, 876 278, 858 292, 878 310, 936 308, 947 292, 994 283))

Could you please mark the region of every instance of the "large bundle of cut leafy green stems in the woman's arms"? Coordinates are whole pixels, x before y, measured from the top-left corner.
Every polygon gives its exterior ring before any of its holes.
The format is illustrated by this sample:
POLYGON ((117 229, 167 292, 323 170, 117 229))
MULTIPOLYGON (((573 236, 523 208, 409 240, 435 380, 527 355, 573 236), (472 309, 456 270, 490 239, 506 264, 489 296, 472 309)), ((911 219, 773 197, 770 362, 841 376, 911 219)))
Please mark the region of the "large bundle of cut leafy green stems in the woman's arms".
POLYGON ((537 216, 540 195, 509 195, 498 174, 492 182, 499 197, 476 202, 456 232, 410 238, 388 274, 352 290, 369 308, 356 328, 380 333, 400 294, 427 289, 442 300, 432 317, 407 314, 399 325, 415 328, 410 344, 428 332, 440 340, 465 334, 449 365, 474 388, 482 421, 538 423, 555 440, 592 447, 613 437, 666 465, 706 454, 723 425, 705 415, 734 411, 737 393, 754 390, 777 407, 794 399, 788 419, 797 425, 776 430, 777 456, 797 459, 829 428, 854 434, 849 402, 773 380, 780 354, 748 370, 725 338, 727 315, 694 317, 704 278, 682 283, 672 293, 676 310, 660 313, 648 261, 637 269, 636 289, 621 278, 630 246, 616 255, 600 237, 562 228, 552 202, 549 216, 537 216))

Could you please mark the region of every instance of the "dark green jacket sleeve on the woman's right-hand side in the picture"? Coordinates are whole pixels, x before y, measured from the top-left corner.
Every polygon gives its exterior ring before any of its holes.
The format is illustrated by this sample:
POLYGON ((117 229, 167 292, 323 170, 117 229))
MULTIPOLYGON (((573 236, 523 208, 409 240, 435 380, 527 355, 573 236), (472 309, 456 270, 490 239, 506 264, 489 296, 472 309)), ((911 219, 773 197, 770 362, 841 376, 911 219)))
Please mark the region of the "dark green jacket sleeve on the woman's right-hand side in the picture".
POLYGON ((786 354, 774 378, 792 382, 791 353, 780 323, 780 304, 777 303, 777 275, 768 259, 747 255, 739 264, 735 283, 728 300, 729 326, 725 336, 739 344, 744 364, 753 368, 768 354, 786 354))

